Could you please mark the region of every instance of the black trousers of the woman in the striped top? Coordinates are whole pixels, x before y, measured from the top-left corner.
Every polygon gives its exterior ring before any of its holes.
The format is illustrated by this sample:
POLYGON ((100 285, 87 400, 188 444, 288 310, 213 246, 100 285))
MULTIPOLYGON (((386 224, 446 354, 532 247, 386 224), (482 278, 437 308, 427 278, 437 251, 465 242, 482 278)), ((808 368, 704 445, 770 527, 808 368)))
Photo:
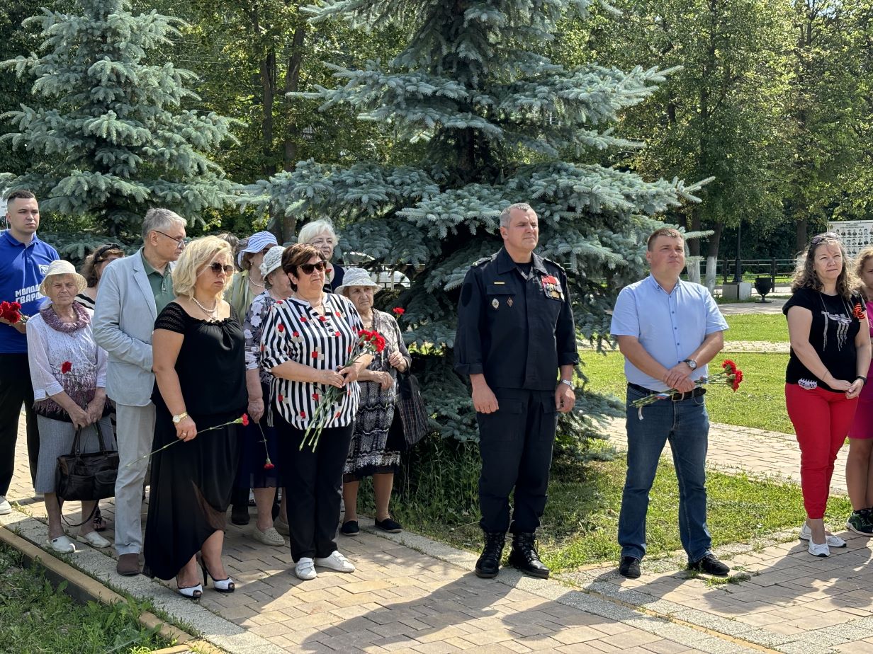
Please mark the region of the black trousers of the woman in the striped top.
POLYGON ((352 442, 352 425, 325 429, 318 447, 303 446, 303 431, 274 413, 278 435, 279 469, 288 497, 291 557, 325 557, 335 550, 340 522, 342 468, 352 442))

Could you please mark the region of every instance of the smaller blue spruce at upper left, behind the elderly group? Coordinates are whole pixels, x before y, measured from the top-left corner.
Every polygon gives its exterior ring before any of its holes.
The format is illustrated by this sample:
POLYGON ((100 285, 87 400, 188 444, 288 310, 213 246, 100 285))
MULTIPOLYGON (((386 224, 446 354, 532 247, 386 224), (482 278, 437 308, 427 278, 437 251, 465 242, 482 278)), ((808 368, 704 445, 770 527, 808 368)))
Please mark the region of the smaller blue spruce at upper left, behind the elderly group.
POLYGON ((112 234, 139 234, 142 215, 162 206, 186 218, 233 201, 235 187, 209 159, 232 140, 232 121, 183 108, 197 100, 193 72, 155 57, 181 23, 127 0, 81 0, 80 13, 43 10, 43 54, 4 61, 35 78, 43 106, 3 114, 3 136, 25 151, 25 174, 4 176, 38 194, 44 212, 89 216, 112 234), (149 56, 151 53, 151 56, 149 56))

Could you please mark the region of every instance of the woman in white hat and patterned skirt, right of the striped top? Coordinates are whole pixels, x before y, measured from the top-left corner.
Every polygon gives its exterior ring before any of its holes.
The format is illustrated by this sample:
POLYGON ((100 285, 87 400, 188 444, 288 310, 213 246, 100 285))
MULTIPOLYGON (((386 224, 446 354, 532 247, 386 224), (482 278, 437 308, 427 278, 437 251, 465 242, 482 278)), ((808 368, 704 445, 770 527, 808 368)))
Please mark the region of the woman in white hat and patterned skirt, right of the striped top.
POLYGON ((375 355, 367 370, 358 376, 361 404, 354 419, 352 443, 342 477, 346 514, 340 531, 347 536, 360 531, 356 511, 358 486, 361 479, 369 475, 373 475, 376 528, 392 534, 402 530, 388 512, 394 473, 400 467, 400 449, 389 441, 388 432, 394 419, 397 371, 409 370, 412 359, 395 318, 373 308, 373 298, 379 290, 379 284, 360 268, 347 269, 343 284, 336 290, 352 301, 361 314, 365 330, 376 330, 385 338, 385 350, 375 355))

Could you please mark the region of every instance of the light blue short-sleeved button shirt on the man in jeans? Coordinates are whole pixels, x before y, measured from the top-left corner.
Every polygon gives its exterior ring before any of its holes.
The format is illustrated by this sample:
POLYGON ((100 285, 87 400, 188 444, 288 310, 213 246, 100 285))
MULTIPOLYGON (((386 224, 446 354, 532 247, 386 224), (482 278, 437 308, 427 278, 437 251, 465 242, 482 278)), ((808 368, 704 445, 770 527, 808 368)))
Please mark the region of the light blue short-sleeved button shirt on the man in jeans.
MULTIPOLYGON (((726 329, 725 317, 705 286, 679 280, 672 292, 667 293, 653 276, 622 289, 609 327, 613 336, 636 337, 643 349, 665 368, 690 358, 705 337, 726 329)), ((705 374, 706 366, 698 366, 691 379, 705 374)), ((663 381, 650 377, 627 357, 624 375, 630 384, 651 391, 667 390, 663 381)))

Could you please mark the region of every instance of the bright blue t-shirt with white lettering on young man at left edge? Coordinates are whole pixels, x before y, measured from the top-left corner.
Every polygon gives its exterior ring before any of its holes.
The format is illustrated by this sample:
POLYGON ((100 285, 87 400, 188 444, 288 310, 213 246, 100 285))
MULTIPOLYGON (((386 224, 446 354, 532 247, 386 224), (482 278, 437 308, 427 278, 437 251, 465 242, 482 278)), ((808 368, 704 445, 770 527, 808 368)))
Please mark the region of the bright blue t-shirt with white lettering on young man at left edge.
MULTIPOLYGON (((33 316, 44 297, 39 292, 49 263, 59 259, 58 251, 33 235, 28 245, 9 230, 0 234, 0 302, 21 304, 24 316, 33 316)), ((8 324, 0 324, 0 354, 27 351, 27 337, 8 324)))

